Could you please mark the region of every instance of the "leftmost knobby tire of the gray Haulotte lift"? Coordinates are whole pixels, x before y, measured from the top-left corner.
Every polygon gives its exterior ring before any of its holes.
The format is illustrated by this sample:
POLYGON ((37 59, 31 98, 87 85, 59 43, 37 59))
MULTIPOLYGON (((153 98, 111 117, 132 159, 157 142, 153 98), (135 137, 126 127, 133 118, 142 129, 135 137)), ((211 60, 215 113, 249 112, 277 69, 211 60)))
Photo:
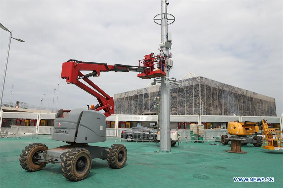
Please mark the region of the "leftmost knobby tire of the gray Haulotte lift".
POLYGON ((25 146, 25 149, 22 151, 19 158, 21 167, 30 172, 42 170, 47 163, 38 163, 33 157, 37 152, 43 152, 47 149, 48 147, 45 144, 40 143, 32 143, 25 146))

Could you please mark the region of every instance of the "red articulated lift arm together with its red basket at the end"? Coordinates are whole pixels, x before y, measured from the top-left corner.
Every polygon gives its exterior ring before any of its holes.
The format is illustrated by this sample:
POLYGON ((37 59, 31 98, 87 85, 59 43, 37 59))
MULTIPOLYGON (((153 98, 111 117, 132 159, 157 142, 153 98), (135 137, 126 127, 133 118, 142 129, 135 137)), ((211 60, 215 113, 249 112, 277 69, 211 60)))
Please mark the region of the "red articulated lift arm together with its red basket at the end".
MULTIPOLYGON (((104 115, 106 117, 110 116, 111 114, 114 114, 114 100, 113 97, 110 97, 107 93, 105 93, 101 88, 99 88, 96 84, 94 84, 91 80, 89 80, 89 77, 97 77, 100 76, 100 72, 108 72, 108 71, 114 71, 114 72, 139 72, 138 77, 142 79, 150 79, 150 78, 156 78, 161 76, 166 76, 165 70, 156 70, 154 68, 154 65, 159 64, 156 63, 157 56, 150 57, 150 55, 145 55, 145 59, 139 60, 140 65, 142 66, 131 66, 131 65, 107 65, 106 63, 96 63, 96 62, 84 62, 84 61, 78 61, 70 59, 67 62, 63 63, 62 66, 62 73, 61 77, 63 79, 66 79, 67 83, 75 84, 76 86, 80 87, 81 89, 85 90, 92 96, 96 97, 99 104, 97 104, 94 109, 96 111, 104 110, 104 115), (83 70, 91 70, 92 73, 83 75, 80 71, 83 70), (92 86, 96 91, 94 91, 92 88, 86 86, 83 84, 80 79, 83 79, 88 83, 90 86, 92 86)), ((159 56, 160 59, 163 58, 164 62, 162 65, 165 69, 165 58, 162 56, 159 56)))

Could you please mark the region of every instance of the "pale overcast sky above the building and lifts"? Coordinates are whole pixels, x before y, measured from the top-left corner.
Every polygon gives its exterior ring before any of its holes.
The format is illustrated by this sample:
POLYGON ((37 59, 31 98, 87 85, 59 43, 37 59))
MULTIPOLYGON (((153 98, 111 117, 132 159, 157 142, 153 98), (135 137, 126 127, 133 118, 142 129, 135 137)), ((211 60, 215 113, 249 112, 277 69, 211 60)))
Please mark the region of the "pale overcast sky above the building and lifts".
MULTIPOLYGON (((275 97, 282 114, 282 1, 169 1, 174 67, 275 97)), ((158 51, 161 1, 2 1, 1 24, 13 29, 3 102, 43 106, 53 100, 62 63, 69 59, 125 65, 158 51)), ((9 33, 1 29, 1 84, 9 33)), ((145 87, 136 72, 92 78, 110 96, 145 87)), ((56 98, 56 94, 55 94, 56 98)), ((90 94, 60 80, 58 107, 96 104, 90 94)), ((52 103, 52 102, 51 102, 52 103)), ((50 104, 51 104, 50 103, 50 104)))

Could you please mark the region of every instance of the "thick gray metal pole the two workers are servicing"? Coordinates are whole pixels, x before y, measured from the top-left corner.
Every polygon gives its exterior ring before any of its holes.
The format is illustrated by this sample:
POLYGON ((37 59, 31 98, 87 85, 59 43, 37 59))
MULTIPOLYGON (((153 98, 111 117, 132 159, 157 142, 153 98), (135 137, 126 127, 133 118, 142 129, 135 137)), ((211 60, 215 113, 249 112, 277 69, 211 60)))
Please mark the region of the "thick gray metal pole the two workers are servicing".
MULTIPOLYGON (((161 1, 161 42, 165 44, 168 41, 168 22, 167 22, 167 5, 166 1, 161 1)), ((169 49, 161 47, 168 55, 169 49)), ((167 61, 166 61, 167 62, 167 61)), ((166 77, 169 77, 169 70, 165 65, 166 77)), ((160 151, 170 151, 170 82, 166 78, 161 78, 160 83, 160 151)))

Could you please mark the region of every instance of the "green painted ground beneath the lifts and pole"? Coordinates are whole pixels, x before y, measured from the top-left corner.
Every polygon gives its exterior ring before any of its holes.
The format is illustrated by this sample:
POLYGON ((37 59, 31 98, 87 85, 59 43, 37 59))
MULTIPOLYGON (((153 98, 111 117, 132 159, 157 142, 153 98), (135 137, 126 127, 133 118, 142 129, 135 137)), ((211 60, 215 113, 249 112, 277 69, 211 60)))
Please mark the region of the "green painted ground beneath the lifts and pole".
POLYGON ((283 187, 283 152, 252 145, 242 147, 247 154, 232 154, 225 152, 230 145, 183 142, 170 153, 154 153, 159 148, 153 143, 123 141, 128 150, 124 168, 110 169, 106 160, 94 159, 88 177, 71 182, 62 175, 60 165, 47 164, 38 172, 25 171, 19 165, 21 150, 32 142, 49 148, 64 143, 45 138, 5 138, 0 142, 1 187, 283 187), (234 183, 233 177, 274 177, 275 182, 234 183))

